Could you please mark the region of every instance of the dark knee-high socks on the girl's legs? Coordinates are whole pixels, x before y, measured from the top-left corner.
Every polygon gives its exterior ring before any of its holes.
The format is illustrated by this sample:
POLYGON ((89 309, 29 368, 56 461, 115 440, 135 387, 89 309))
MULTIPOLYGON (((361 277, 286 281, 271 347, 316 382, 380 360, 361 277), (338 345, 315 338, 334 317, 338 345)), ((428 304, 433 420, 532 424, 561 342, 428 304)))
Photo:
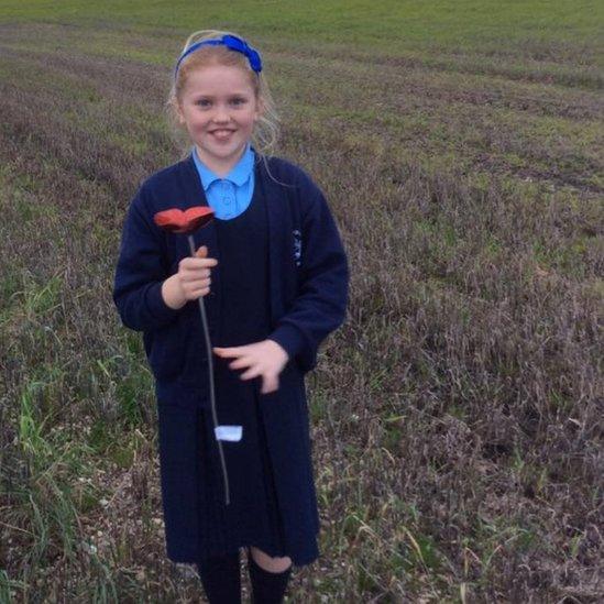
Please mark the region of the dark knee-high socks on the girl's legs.
MULTIPOLYGON (((252 582, 252 603, 281 604, 292 565, 283 572, 265 571, 248 550, 248 569, 252 582)), ((197 570, 210 604, 241 604, 239 550, 220 558, 204 559, 198 562, 197 570)))

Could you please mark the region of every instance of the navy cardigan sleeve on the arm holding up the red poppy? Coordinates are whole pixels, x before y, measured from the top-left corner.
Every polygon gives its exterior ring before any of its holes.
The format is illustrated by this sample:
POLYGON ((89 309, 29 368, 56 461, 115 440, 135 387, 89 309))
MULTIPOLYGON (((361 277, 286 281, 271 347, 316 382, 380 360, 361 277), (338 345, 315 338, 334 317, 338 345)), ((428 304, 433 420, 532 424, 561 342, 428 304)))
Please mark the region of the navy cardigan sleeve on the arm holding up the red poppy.
POLYGON ((125 327, 153 331, 175 321, 180 309, 166 305, 162 284, 168 276, 162 232, 141 207, 144 185, 132 200, 122 230, 113 301, 125 327))

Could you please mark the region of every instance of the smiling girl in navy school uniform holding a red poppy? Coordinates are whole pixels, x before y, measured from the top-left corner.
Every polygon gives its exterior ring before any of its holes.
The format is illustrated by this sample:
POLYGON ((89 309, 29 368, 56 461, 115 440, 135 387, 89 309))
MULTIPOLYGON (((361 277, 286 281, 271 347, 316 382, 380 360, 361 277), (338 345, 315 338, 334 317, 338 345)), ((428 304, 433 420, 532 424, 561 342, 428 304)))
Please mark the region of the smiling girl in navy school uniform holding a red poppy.
POLYGON ((113 299, 143 332, 155 377, 167 556, 196 563, 210 602, 240 602, 245 548, 254 602, 282 602, 292 564, 319 556, 319 517, 304 377, 345 315, 349 266, 320 189, 263 153, 276 136, 262 58, 241 37, 193 34, 168 100, 187 156, 147 178, 123 224, 113 299), (156 212, 209 205, 215 220, 187 238, 156 212), (209 414, 198 298, 216 345, 226 505, 209 414))

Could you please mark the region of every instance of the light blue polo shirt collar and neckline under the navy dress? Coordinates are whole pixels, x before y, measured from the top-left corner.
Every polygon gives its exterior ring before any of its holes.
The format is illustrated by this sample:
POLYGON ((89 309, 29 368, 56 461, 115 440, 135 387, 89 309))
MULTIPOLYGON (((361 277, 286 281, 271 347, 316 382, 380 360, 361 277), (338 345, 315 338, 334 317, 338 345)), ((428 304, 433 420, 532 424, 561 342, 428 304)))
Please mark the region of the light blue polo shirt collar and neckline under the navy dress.
POLYGON ((215 217, 229 220, 243 213, 248 209, 254 193, 255 157, 251 143, 248 143, 239 162, 224 177, 217 176, 199 160, 195 146, 191 154, 208 205, 213 209, 215 217))

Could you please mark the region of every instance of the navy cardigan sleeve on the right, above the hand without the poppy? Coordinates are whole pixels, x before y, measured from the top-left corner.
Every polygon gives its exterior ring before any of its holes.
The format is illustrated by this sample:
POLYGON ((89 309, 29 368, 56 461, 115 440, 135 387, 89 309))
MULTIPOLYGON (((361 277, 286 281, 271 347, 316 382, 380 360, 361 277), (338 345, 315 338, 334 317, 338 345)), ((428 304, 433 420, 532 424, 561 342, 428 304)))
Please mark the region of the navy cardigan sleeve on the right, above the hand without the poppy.
POLYGON ((323 194, 308 176, 300 196, 303 233, 298 295, 268 339, 284 348, 306 373, 317 364, 320 343, 344 321, 350 275, 336 221, 323 194))

